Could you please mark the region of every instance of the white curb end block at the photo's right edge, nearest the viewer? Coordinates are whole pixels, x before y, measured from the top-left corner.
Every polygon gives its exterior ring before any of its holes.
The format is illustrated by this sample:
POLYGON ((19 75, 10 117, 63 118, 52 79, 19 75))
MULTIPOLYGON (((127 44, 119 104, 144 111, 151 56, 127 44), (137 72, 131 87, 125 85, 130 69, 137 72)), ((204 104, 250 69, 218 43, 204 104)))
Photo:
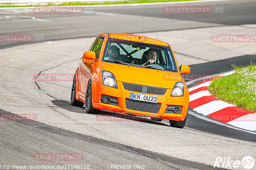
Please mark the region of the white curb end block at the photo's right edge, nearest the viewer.
POLYGON ((227 122, 227 124, 231 124, 233 126, 243 128, 249 131, 256 131, 256 113, 251 113, 248 115, 244 115, 237 119, 231 120, 227 122))

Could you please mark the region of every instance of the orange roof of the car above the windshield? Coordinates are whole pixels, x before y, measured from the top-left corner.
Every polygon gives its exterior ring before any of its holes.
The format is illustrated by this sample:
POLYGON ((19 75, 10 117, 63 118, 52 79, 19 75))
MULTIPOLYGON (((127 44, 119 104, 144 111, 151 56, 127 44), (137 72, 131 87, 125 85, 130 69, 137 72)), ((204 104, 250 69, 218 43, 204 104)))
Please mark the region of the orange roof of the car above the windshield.
POLYGON ((124 39, 124 40, 136 41, 136 42, 156 44, 156 45, 160 45, 160 46, 169 46, 164 41, 144 37, 144 36, 141 36, 141 35, 132 35, 132 34, 123 34, 123 33, 107 33, 107 34, 109 34, 109 38, 124 39))

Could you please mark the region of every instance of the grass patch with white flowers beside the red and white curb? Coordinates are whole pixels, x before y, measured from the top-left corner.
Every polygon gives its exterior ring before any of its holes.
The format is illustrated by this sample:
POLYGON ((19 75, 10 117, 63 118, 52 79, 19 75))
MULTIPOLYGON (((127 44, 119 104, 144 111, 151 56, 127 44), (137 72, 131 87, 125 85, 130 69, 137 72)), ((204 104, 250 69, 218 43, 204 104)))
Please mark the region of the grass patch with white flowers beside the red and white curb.
POLYGON ((227 103, 256 112, 256 64, 233 67, 236 73, 213 80, 209 92, 227 103))

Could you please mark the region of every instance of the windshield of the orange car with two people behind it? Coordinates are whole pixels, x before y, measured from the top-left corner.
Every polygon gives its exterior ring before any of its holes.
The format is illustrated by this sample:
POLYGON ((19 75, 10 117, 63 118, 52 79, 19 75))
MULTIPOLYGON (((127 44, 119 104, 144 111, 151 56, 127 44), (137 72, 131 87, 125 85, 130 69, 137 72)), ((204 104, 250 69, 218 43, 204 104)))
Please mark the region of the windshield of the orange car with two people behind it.
POLYGON ((177 72, 169 46, 108 39, 102 61, 177 72))

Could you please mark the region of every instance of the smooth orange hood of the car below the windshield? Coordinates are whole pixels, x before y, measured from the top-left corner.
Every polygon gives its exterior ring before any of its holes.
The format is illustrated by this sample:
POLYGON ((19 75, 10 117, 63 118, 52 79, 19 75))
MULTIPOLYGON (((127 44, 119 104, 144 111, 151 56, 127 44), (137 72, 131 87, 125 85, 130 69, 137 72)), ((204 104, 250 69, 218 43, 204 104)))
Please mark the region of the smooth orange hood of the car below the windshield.
POLYGON ((180 73, 109 62, 102 62, 101 65, 114 74, 116 81, 121 82, 172 89, 176 82, 183 81, 180 73))

